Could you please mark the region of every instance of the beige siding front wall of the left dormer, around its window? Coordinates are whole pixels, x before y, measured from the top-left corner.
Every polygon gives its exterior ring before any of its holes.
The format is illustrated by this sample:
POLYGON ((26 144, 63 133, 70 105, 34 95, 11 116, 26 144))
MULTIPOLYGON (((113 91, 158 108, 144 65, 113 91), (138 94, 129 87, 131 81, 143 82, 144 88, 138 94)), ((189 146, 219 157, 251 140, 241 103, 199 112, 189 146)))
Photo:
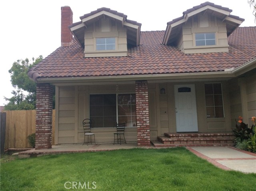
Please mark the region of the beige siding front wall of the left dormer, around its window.
POLYGON ((86 28, 84 32, 84 44, 85 57, 127 56, 126 28, 110 20, 110 31, 101 32, 100 22, 95 22, 86 28), (96 51, 96 38, 108 37, 116 38, 116 50, 96 51))

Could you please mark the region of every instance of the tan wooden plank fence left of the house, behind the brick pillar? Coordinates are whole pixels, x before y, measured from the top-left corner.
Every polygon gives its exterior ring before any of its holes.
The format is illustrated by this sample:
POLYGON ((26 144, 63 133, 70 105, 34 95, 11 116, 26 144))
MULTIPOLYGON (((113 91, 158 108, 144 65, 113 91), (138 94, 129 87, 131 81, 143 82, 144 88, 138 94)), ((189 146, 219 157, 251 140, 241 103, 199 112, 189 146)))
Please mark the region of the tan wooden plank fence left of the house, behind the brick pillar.
MULTIPOLYGON (((28 135, 36 132, 36 110, 6 112, 4 149, 30 148, 28 135)), ((52 144, 54 144, 55 109, 52 111, 52 144)))

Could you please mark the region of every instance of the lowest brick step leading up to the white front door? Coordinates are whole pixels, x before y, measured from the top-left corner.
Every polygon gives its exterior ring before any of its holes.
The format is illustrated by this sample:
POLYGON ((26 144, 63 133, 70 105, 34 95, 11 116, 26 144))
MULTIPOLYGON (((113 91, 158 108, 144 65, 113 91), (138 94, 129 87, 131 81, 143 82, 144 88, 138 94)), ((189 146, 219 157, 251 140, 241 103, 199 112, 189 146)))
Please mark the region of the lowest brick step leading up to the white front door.
POLYGON ((160 141, 150 141, 154 147, 215 147, 215 146, 233 146, 234 143, 161 143, 160 141))

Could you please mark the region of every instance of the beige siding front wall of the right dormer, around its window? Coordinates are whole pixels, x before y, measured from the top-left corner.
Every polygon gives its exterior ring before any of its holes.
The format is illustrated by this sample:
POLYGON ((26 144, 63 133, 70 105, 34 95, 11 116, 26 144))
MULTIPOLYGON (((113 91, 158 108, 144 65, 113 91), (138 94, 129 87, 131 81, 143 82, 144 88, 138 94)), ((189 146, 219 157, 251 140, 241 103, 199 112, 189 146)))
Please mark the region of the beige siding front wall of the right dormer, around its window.
POLYGON ((209 52, 228 52, 228 37, 226 31, 226 23, 218 18, 208 17, 208 27, 200 27, 198 16, 189 19, 182 26, 182 37, 178 41, 178 46, 185 54, 192 53, 209 53, 209 52), (195 34, 204 32, 215 32, 216 45, 214 46, 196 46, 195 34))

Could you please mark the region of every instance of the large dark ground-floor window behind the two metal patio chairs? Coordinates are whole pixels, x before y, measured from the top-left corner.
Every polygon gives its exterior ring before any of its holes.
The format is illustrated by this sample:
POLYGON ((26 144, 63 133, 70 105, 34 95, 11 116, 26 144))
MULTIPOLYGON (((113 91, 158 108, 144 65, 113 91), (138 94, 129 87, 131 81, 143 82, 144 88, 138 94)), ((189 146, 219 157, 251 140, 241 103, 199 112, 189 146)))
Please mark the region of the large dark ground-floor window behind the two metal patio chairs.
POLYGON ((135 94, 91 94, 90 119, 92 127, 115 127, 125 123, 136 126, 135 94))

